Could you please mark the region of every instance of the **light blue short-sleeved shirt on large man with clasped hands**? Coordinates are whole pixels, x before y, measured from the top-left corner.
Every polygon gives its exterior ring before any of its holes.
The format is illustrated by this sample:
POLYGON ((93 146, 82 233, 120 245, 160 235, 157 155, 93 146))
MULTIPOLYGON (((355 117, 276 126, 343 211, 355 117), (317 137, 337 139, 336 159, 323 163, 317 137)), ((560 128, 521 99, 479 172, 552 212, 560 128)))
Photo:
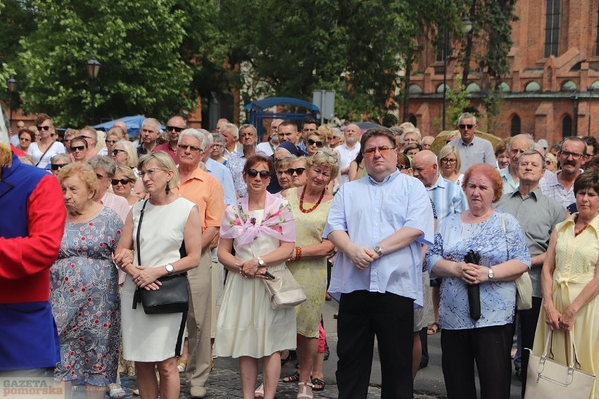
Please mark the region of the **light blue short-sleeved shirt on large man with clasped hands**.
POLYGON ((418 179, 395 171, 382 183, 367 175, 342 185, 330 207, 323 238, 342 230, 354 244, 373 248, 403 227, 416 228, 423 235, 407 247, 384 254, 366 270, 359 270, 338 252, 330 295, 338 301, 341 294, 358 290, 390 292, 423 306, 422 244, 431 244, 434 235, 430 198, 418 179))

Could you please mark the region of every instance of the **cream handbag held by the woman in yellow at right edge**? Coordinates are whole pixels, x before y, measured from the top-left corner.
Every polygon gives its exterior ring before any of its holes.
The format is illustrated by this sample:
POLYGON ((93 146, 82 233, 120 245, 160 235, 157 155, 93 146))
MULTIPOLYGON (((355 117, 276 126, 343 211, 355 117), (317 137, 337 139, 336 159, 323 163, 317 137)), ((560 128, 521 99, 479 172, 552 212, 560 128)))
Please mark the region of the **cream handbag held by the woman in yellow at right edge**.
POLYGON ((565 332, 568 338, 568 365, 562 365, 553 360, 551 346, 553 331, 548 332, 543 355, 535 355, 530 349, 528 360, 526 399, 588 399, 591 396, 595 375, 583 372, 577 360, 576 345, 572 332, 565 332), (547 357, 550 353, 550 358, 547 357))

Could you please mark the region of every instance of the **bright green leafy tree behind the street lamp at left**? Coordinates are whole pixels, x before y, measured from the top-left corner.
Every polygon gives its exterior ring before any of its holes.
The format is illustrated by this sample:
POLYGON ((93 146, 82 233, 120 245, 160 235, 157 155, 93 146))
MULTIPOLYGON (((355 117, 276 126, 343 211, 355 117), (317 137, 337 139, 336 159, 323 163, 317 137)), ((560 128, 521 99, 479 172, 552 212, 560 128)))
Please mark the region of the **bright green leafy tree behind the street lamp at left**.
MULTIPOLYGON (((186 15, 175 0, 34 0, 37 30, 21 41, 25 110, 58 124, 89 121, 85 63, 102 63, 96 115, 165 119, 193 107, 191 67, 181 60, 186 15)), ((94 121, 98 122, 98 121, 94 121)))

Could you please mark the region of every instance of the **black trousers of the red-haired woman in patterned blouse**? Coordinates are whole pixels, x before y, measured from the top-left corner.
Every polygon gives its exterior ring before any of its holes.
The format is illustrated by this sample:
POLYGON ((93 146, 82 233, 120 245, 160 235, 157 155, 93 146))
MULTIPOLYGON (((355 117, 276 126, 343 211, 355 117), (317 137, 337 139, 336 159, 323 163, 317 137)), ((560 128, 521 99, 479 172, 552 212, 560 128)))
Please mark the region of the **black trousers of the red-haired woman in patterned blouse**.
POLYGON ((443 329, 442 368, 448 399, 477 399, 476 367, 481 399, 505 399, 510 395, 513 325, 475 329, 443 329))

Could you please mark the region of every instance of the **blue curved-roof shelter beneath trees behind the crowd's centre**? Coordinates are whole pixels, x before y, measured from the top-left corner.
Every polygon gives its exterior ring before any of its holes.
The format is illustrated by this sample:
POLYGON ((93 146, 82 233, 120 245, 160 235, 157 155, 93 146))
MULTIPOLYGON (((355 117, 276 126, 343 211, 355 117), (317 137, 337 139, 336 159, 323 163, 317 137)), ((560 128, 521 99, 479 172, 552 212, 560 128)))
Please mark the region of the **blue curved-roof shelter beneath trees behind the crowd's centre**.
POLYGON ((250 124, 256 126, 258 137, 262 140, 262 130, 264 119, 304 119, 305 117, 313 117, 316 119, 318 107, 312 103, 308 103, 298 98, 290 97, 269 97, 262 100, 252 101, 245 105, 245 110, 250 112, 248 120, 250 124), (277 105, 291 105, 292 107, 302 107, 306 112, 264 112, 266 108, 276 107, 277 105))

